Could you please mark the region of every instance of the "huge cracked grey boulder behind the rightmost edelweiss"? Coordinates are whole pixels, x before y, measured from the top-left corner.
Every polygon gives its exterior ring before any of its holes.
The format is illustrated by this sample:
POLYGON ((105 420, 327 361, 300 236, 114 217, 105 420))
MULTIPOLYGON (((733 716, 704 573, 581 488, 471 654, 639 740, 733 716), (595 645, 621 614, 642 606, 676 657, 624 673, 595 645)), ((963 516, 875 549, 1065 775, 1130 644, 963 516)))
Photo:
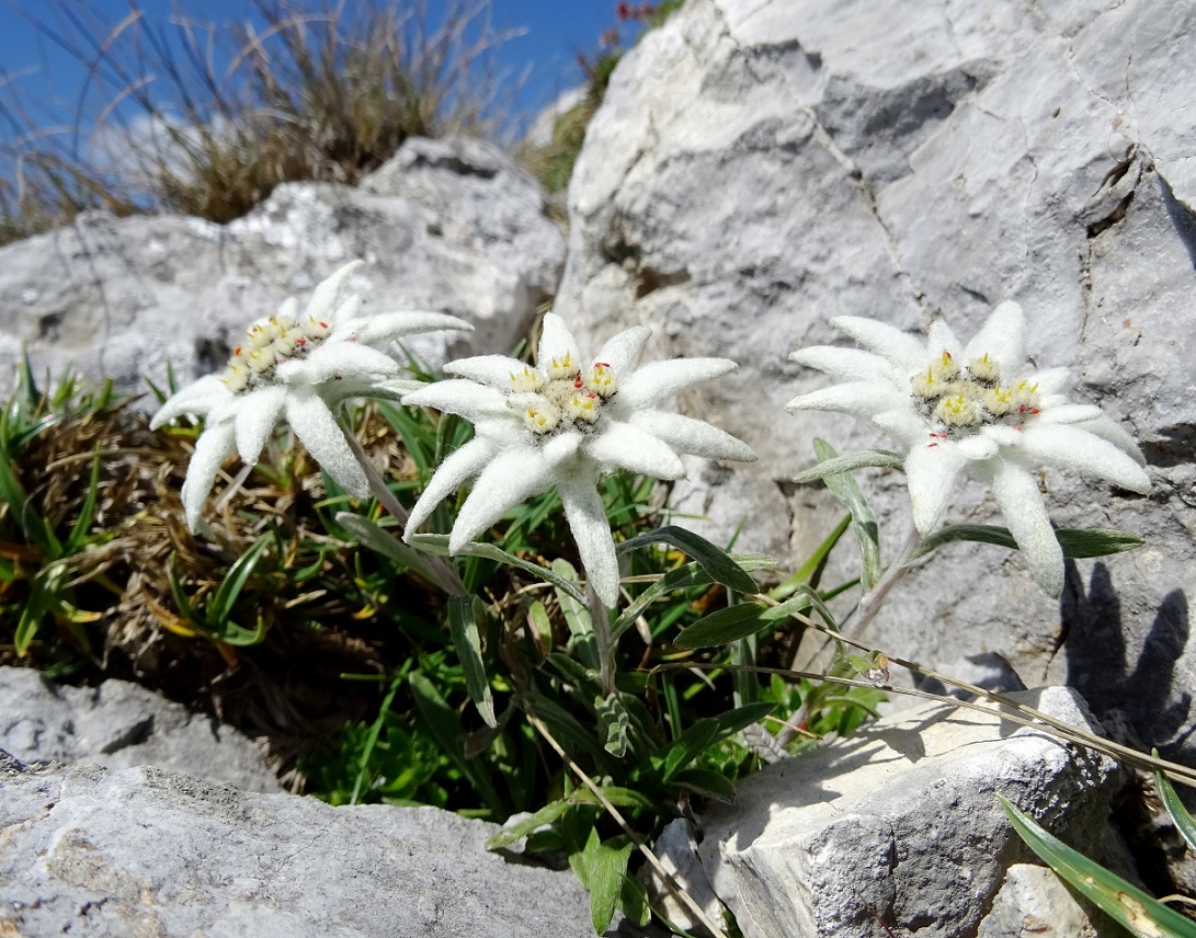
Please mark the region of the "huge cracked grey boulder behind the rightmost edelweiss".
MULTIPOLYGON (((1148 544, 1078 563, 1062 608, 1015 554, 952 545, 868 638, 919 661, 1000 652, 1027 683, 1066 680, 1189 755, 1196 158, 1180 141, 1196 111, 1177 96, 1194 29, 1196 7, 1165 0, 692 0, 627 55, 590 127, 556 307, 584 347, 642 324, 651 352, 740 363, 681 404, 761 461, 695 462, 677 507, 708 515, 716 541, 746 519, 740 547, 797 563, 841 510, 789 483, 811 437, 887 441, 787 415, 826 384, 789 352, 837 343, 836 314, 905 330, 945 317, 970 336, 1019 301, 1033 361, 1069 367, 1072 399, 1137 435, 1155 485, 1139 498, 1051 471, 1052 517, 1148 544)), ((892 558, 910 528, 902 479, 861 478, 892 558)), ((1000 523, 983 486, 960 486, 958 522, 1000 523)))

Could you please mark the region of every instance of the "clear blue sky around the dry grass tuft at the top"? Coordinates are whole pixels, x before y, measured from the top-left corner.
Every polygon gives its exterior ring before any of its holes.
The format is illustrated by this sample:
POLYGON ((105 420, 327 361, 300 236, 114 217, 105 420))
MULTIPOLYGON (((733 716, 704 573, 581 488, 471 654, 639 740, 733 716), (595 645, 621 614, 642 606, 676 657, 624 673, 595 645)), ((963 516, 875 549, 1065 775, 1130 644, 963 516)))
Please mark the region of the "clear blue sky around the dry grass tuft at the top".
MULTIPOLYGON (((306 8, 323 7, 322 0, 291 2, 306 8)), ((352 11, 356 2, 347 0, 348 8, 352 11)), ((165 24, 172 16, 182 16, 221 27, 251 18, 254 7, 250 0, 141 0, 139 6, 152 23, 165 24)), ((428 0, 433 22, 444 6, 445 0, 428 0)), ((0 69, 6 76, 0 81, 17 82, 22 99, 39 105, 39 125, 73 123, 87 76, 77 56, 29 20, 29 17, 42 19, 61 32, 69 32, 69 23, 61 19, 61 13, 55 20, 51 13, 55 7, 79 11, 92 22, 114 25, 128 14, 129 1, 0 0, 0 69)), ((578 84, 582 78, 576 65, 578 54, 592 56, 602 33, 616 25, 614 0, 492 0, 489 17, 498 30, 523 31, 496 53, 496 65, 502 73, 512 79, 526 75, 523 85, 511 92, 513 103, 506 105, 515 112, 517 122, 578 84)), ((110 97, 110 93, 93 93, 85 99, 84 123, 93 119, 110 97)), ((0 121, 0 142, 12 142, 11 128, 4 121, 0 121)))

